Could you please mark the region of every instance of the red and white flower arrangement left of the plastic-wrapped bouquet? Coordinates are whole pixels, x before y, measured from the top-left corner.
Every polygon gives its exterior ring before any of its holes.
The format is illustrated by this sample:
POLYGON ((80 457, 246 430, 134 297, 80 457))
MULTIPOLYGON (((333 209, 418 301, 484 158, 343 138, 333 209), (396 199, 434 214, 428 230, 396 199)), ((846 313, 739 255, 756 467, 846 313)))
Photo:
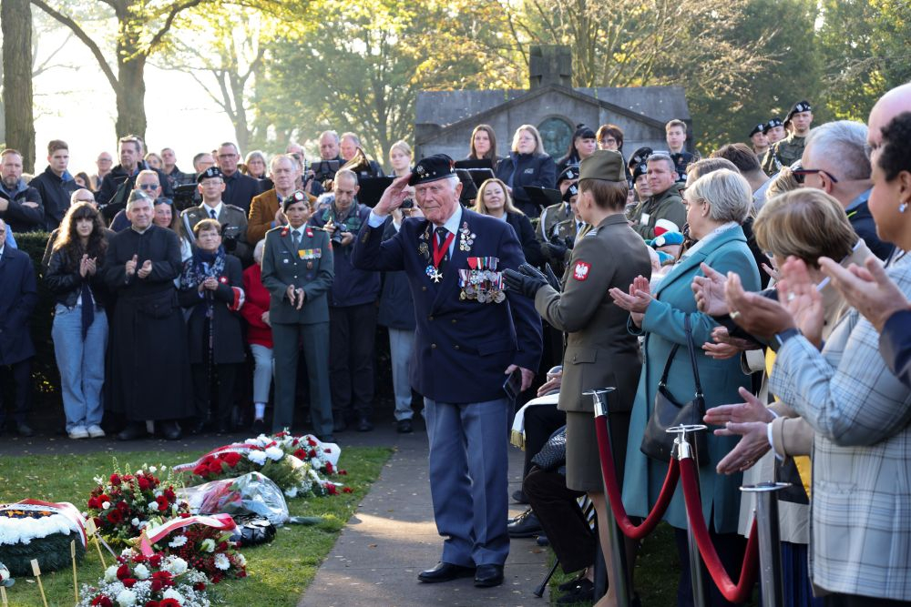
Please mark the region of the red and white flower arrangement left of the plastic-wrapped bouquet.
POLYGON ((166 467, 143 464, 136 474, 124 473, 115 459, 107 479, 95 477, 98 484, 88 498, 87 516, 107 541, 126 546, 148 525, 189 514, 187 502, 177 499, 171 472, 162 481, 155 476, 159 470, 166 467))

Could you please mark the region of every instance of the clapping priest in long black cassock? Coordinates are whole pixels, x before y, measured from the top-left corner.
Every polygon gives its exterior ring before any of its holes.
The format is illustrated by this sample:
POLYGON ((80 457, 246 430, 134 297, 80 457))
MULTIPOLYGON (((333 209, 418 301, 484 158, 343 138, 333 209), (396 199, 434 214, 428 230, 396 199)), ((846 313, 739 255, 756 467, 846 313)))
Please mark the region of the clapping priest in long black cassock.
POLYGON ((152 209, 150 197, 130 195, 130 228, 110 238, 105 258, 105 282, 117 295, 107 349, 109 408, 127 420, 119 440, 142 437, 146 420, 177 440, 177 420, 192 414, 187 335, 174 284, 180 245, 177 234, 152 224, 152 209))

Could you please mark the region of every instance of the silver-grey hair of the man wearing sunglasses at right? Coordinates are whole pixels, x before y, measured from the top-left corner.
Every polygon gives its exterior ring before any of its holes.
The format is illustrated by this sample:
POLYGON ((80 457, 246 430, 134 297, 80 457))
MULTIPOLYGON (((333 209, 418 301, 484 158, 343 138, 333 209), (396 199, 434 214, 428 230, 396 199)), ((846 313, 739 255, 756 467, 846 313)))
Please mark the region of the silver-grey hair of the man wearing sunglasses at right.
MULTIPOLYGON (((816 126, 806 136, 806 149, 838 179, 869 179, 870 158, 866 155, 867 128, 862 122, 835 120, 816 126)), ((804 167, 818 168, 818 167, 804 167)))

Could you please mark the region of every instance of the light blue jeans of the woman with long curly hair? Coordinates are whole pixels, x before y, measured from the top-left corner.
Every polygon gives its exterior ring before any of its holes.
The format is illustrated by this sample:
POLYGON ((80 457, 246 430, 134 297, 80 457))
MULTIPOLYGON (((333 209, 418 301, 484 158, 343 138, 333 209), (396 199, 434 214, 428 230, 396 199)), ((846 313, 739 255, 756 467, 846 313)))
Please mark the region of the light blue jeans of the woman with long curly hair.
POLYGON ((82 340, 82 309, 60 304, 54 311, 54 339, 63 410, 67 415, 67 432, 77 427, 101 424, 103 406, 101 388, 105 383, 105 349, 107 317, 97 308, 95 319, 82 340))

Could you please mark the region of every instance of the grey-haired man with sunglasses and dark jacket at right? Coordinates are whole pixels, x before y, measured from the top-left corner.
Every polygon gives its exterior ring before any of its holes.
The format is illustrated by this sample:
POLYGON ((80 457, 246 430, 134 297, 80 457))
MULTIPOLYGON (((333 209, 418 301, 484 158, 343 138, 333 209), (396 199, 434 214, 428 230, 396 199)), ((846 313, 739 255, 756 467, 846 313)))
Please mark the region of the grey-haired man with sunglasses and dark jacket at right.
POLYGON ((837 120, 817 126, 806 137, 802 168, 794 171, 804 187, 814 187, 833 196, 847 213, 866 246, 880 259, 888 258, 895 246, 876 235, 876 224, 867 200, 873 189, 870 159, 866 155, 867 128, 862 122, 837 120))

